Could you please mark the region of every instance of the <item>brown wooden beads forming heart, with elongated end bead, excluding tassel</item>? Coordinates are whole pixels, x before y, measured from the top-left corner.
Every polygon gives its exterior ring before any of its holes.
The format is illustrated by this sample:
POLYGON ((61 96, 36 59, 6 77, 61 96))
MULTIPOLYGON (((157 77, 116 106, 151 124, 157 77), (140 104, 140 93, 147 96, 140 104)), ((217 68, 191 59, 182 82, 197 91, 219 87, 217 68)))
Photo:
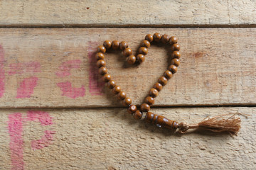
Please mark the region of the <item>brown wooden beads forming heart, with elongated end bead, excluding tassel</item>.
POLYGON ((165 127, 171 129, 177 129, 178 123, 173 120, 169 120, 161 115, 156 115, 154 113, 149 112, 150 106, 154 104, 154 98, 158 96, 159 91, 165 86, 173 74, 177 72, 177 67, 180 64, 179 58, 181 54, 179 52, 180 45, 178 45, 178 39, 174 36, 169 35, 161 35, 160 33, 154 33, 154 35, 146 35, 145 40, 143 40, 140 44, 138 53, 136 57, 132 55, 132 49, 128 47, 128 43, 125 41, 119 42, 117 40, 105 40, 103 45, 97 47, 97 54, 95 55, 97 60, 97 67, 99 68, 99 74, 102 75, 102 80, 107 83, 109 89, 112 89, 112 93, 117 96, 119 101, 122 101, 124 106, 128 107, 128 113, 132 114, 134 119, 142 119, 143 113, 146 112, 145 120, 149 123, 154 123, 158 127, 165 127), (110 74, 108 74, 106 62, 105 62, 105 52, 107 50, 122 50, 124 57, 127 57, 127 62, 129 64, 139 63, 141 64, 145 60, 145 56, 148 53, 148 48, 150 47, 152 42, 161 42, 164 44, 171 45, 171 64, 168 69, 164 72, 164 75, 161 76, 154 84, 153 88, 149 91, 149 96, 145 98, 144 103, 137 109, 137 106, 132 105, 132 99, 127 97, 127 95, 122 91, 120 86, 117 86, 116 82, 112 80, 110 74))

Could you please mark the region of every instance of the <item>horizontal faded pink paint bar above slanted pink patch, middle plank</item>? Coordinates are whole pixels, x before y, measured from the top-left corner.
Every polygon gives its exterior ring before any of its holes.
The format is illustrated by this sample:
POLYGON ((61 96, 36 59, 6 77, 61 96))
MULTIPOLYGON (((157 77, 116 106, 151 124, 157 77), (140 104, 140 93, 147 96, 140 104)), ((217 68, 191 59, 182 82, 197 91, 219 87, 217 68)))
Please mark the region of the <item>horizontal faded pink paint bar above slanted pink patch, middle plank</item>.
POLYGON ((19 62, 12 63, 9 65, 9 75, 13 74, 23 74, 26 73, 36 73, 41 72, 41 64, 39 62, 19 62))

